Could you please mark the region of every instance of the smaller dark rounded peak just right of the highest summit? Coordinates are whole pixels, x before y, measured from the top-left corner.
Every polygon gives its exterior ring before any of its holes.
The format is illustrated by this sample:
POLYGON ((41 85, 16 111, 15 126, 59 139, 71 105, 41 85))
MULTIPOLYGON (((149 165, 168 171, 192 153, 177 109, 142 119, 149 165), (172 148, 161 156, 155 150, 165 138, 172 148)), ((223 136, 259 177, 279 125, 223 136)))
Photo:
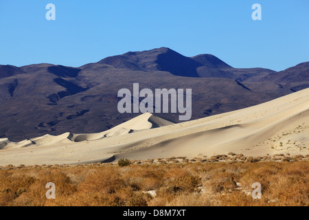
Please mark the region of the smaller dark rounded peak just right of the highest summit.
POLYGON ((200 54, 197 56, 193 56, 192 59, 201 63, 201 65, 205 67, 218 68, 218 69, 231 69, 230 65, 221 61, 218 57, 211 54, 200 54))

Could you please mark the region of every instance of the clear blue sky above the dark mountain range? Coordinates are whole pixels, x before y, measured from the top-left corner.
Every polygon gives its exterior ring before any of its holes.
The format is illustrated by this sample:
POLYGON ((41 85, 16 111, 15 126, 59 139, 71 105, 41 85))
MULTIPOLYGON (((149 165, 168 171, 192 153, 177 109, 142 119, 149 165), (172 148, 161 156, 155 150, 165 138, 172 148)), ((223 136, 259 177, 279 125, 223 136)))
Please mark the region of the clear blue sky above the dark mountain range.
POLYGON ((79 67, 170 47, 233 67, 282 70, 309 61, 308 0, 0 0, 0 64, 79 67), (47 3, 56 21, 47 21, 47 3), (253 3, 262 21, 253 21, 253 3))

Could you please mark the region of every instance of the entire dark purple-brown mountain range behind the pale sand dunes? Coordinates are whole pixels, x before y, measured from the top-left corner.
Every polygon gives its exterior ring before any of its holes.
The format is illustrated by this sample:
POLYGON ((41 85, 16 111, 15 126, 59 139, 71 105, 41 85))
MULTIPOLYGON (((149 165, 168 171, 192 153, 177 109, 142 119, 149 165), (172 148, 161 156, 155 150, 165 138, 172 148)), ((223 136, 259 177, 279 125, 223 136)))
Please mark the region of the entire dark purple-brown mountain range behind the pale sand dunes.
MULTIPOLYGON (((111 56, 81 67, 0 65, 0 138, 19 142, 46 134, 112 129, 139 115, 117 111, 121 100, 117 92, 132 91, 133 83, 152 91, 192 89, 192 120, 203 118, 305 89, 308 69, 308 65, 296 66, 290 74, 288 69, 233 68, 210 54, 190 58, 166 47, 111 56), (290 78, 272 80, 286 73, 290 78)), ((155 115, 179 122, 179 113, 155 115)))

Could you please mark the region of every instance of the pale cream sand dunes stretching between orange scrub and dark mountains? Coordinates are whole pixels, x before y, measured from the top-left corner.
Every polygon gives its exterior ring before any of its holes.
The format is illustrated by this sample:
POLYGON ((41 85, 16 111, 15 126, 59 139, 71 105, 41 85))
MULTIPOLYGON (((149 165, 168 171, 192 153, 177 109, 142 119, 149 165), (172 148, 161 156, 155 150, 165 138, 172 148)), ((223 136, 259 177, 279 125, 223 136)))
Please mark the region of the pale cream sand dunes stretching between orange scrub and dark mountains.
MULTIPOLYGON (((194 110, 194 109, 193 109, 194 110)), ((0 139, 0 165, 111 162, 122 157, 309 153, 309 89, 270 102, 172 124, 150 113, 102 133, 0 139)))

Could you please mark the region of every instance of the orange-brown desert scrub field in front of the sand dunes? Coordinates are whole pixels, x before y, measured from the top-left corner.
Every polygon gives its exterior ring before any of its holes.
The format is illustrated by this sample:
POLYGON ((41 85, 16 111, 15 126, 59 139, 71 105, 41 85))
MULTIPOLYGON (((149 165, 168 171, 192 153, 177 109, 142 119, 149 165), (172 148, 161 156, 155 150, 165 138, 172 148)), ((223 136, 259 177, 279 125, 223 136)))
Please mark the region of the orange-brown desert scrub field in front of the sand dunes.
POLYGON ((308 181, 308 161, 19 166, 0 170, 0 206, 309 206, 308 181))

